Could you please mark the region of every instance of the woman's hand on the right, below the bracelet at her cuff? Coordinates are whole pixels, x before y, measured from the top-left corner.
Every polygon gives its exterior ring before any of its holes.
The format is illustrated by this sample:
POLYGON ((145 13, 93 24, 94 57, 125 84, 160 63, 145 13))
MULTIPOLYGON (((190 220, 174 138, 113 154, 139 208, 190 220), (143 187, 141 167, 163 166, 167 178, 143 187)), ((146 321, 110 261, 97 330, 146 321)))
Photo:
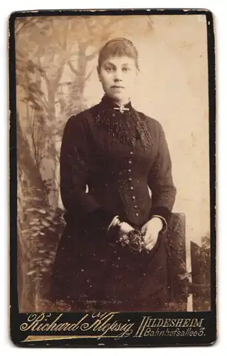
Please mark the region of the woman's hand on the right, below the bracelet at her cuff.
POLYGON ((162 219, 159 219, 158 217, 150 219, 144 226, 142 226, 141 231, 144 234, 144 247, 147 250, 152 250, 161 230, 162 219))

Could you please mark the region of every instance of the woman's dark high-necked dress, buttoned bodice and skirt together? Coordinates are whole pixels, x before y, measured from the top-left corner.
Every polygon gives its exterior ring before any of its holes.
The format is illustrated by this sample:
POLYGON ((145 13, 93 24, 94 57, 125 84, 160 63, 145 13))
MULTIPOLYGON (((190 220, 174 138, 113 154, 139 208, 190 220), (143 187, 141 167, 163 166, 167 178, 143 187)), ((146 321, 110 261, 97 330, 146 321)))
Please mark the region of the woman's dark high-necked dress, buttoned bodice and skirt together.
POLYGON ((120 110, 104 96, 70 117, 60 151, 66 226, 53 266, 51 296, 75 308, 162 310, 168 300, 165 228, 176 189, 162 125, 120 110), (134 252, 107 232, 115 216, 141 229, 164 221, 151 251, 134 252))

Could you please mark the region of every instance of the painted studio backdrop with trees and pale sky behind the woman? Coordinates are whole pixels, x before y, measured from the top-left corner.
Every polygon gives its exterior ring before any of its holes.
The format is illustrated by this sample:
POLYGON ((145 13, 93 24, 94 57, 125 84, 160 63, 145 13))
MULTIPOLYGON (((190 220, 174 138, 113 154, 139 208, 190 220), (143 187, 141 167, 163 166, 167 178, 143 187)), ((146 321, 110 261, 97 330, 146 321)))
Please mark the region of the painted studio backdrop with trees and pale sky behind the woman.
POLYGON ((139 52, 134 108, 159 120, 167 136, 177 189, 173 211, 186 216, 190 271, 191 241, 207 245, 210 235, 206 17, 23 17, 15 33, 20 311, 49 308, 43 294, 64 227, 63 128, 70 115, 102 98, 97 52, 117 36, 139 52))

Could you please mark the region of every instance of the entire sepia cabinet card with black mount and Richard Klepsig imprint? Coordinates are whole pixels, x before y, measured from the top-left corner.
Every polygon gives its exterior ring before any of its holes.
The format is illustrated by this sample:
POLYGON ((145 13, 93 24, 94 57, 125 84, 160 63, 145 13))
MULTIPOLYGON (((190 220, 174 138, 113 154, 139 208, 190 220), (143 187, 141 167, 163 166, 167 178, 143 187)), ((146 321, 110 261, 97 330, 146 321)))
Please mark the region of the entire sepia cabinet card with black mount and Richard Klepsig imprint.
POLYGON ((10 335, 216 340, 216 82, 202 9, 9 16, 10 335))

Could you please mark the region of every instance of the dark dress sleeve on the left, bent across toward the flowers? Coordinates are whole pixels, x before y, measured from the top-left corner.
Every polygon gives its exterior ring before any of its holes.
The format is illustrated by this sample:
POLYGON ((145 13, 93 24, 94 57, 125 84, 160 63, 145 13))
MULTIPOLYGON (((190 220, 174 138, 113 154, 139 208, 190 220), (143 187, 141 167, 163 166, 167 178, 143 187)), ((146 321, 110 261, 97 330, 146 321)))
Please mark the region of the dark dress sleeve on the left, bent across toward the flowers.
POLYGON ((65 125, 60 150, 60 193, 70 219, 107 228, 113 216, 86 192, 93 163, 88 133, 83 115, 70 117, 65 125))

